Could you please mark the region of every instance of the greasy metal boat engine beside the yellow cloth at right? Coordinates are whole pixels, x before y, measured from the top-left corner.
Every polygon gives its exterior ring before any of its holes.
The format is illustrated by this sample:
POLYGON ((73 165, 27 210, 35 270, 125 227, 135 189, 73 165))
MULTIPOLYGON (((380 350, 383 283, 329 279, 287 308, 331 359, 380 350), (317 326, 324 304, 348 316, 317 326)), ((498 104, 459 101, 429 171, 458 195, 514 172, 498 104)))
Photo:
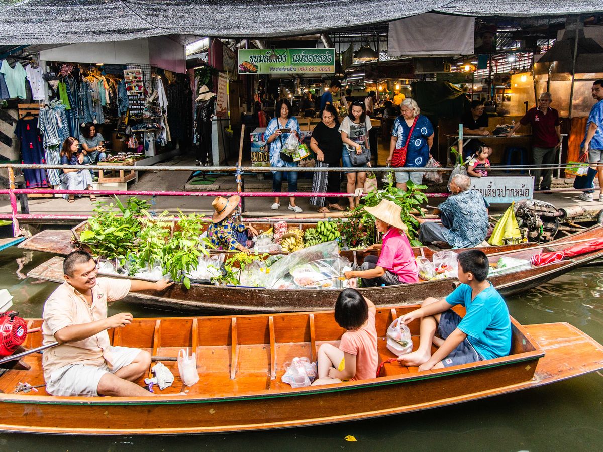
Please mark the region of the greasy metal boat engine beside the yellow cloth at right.
POLYGON ((548 242, 559 230, 564 212, 537 199, 522 199, 515 204, 515 218, 524 237, 531 242, 548 242))

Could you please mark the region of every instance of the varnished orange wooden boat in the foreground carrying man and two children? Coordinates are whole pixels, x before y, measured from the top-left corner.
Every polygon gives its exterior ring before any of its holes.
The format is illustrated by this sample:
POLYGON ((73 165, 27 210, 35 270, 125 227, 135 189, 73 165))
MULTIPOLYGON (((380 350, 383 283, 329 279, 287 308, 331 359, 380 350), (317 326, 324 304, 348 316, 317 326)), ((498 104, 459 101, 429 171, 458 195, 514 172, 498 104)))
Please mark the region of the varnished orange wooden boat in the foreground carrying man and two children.
MULTIPOLYGON (((377 310, 379 359, 388 325, 416 306, 377 310)), ((458 310, 463 315, 463 310, 458 310)), ((29 321, 39 327, 39 320, 29 321)), ((40 354, 0 375, 0 430, 67 435, 186 435, 303 427, 435 408, 576 377, 603 367, 603 346, 566 323, 522 326, 513 320, 510 356, 418 372, 388 363, 382 376, 292 389, 281 381, 295 356, 316 359, 324 342, 337 345, 344 330, 332 312, 205 318, 134 319, 110 330, 113 345, 139 347, 168 366, 184 388, 175 357, 197 353, 200 381, 186 395, 168 397, 55 397, 13 394, 19 382, 43 385, 40 354), (18 367, 25 369, 18 370, 18 367), (29 368, 29 369, 27 369, 29 368), (78 422, 77 419, 86 419, 78 422)), ((418 321, 409 325, 417 347, 418 321)), ((27 347, 40 345, 30 334, 27 347)), ((1 370, 0 370, 1 372, 1 370)), ((139 381, 143 385, 142 381, 139 381)), ((503 407, 504 409, 504 407, 503 407)))

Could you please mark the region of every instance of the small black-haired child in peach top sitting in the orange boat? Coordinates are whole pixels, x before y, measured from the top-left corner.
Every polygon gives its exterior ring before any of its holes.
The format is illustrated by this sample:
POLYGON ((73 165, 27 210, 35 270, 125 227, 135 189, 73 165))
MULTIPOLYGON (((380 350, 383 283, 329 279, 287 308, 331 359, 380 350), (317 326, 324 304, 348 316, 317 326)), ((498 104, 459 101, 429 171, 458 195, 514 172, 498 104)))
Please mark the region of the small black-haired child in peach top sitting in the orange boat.
POLYGON ((335 303, 335 321, 346 328, 339 348, 318 348, 318 379, 312 385, 330 385, 343 380, 374 378, 379 365, 376 308, 355 289, 344 289, 335 303))

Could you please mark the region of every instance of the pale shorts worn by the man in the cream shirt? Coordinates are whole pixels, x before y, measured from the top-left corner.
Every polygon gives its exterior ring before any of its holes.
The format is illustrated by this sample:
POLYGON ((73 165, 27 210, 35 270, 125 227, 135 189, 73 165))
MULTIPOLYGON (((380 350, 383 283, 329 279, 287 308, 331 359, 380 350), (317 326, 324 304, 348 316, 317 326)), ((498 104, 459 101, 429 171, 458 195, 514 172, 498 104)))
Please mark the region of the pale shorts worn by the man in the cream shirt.
POLYGON ((50 380, 46 381, 46 392, 52 395, 98 395, 96 389, 106 373, 115 374, 119 369, 127 366, 142 350, 131 347, 111 347, 111 354, 115 362, 113 369, 107 363, 100 367, 86 364, 69 364, 52 371, 50 380))

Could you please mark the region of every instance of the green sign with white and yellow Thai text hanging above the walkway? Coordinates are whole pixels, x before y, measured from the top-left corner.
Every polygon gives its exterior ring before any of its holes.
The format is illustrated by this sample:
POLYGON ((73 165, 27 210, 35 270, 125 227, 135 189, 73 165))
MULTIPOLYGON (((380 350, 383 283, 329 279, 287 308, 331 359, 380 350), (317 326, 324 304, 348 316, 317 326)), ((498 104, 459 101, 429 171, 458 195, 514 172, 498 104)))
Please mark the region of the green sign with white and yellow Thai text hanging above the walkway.
POLYGON ((334 74, 335 49, 241 49, 239 74, 334 74))

